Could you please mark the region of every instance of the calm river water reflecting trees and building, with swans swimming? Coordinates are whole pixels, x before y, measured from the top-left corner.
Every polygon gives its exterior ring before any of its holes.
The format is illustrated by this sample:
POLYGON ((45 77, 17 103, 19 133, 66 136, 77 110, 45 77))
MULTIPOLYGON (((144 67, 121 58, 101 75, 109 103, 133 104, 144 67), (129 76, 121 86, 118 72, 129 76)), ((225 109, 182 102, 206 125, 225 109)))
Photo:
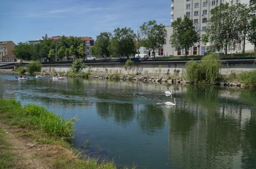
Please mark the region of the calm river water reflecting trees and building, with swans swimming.
POLYGON ((84 156, 119 167, 256 168, 255 89, 0 76, 0 98, 76 117, 84 156))

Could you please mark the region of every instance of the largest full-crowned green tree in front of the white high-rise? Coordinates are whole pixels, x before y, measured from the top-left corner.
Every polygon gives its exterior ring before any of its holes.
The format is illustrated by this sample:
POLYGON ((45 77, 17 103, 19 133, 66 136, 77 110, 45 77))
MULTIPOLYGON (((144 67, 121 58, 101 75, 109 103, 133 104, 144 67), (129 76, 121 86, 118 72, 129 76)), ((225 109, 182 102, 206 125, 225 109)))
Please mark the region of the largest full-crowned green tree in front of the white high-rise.
POLYGON ((217 50, 224 47, 226 54, 228 53, 228 45, 231 48, 235 47, 235 44, 242 40, 241 5, 229 6, 228 3, 223 3, 213 8, 211 15, 206 29, 208 39, 205 39, 203 42, 210 42, 217 50))

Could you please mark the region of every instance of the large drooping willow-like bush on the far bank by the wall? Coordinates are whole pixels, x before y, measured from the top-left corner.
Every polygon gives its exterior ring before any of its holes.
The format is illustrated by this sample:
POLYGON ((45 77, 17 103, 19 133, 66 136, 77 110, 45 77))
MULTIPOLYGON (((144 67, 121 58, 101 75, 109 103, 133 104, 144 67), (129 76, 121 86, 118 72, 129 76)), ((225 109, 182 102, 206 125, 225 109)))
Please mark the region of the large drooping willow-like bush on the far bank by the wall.
POLYGON ((202 62, 190 61, 185 64, 187 78, 194 83, 213 83, 219 77, 220 61, 216 54, 202 57, 202 62))

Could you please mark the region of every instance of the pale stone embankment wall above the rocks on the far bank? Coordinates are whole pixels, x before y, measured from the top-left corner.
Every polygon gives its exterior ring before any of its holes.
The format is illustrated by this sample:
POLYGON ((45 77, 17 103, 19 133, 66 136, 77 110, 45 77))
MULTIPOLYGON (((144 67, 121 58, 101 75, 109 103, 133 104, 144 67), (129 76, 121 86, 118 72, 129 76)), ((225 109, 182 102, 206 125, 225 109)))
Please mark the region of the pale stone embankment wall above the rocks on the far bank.
MULTIPOLYGON (((87 64, 84 71, 90 71, 94 74, 122 74, 122 75, 154 75, 154 76, 167 76, 172 75, 175 77, 183 77, 185 73, 184 65, 186 62, 155 62, 155 63, 138 63, 132 65, 130 68, 125 69, 123 64, 120 63, 96 63, 87 64)), ((71 65, 43 65, 43 70, 51 71, 68 71, 71 65)), ((255 70, 254 63, 223 63, 221 74, 229 75, 234 72, 240 74, 242 71, 255 70)))

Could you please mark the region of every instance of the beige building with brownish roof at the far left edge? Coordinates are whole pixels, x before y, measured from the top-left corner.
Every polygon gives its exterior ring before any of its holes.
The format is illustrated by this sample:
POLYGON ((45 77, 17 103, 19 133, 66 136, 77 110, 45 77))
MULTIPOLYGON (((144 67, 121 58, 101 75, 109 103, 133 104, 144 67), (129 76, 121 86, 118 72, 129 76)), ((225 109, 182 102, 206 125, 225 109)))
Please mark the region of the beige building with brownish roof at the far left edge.
POLYGON ((13 41, 0 41, 0 62, 15 62, 13 41))

